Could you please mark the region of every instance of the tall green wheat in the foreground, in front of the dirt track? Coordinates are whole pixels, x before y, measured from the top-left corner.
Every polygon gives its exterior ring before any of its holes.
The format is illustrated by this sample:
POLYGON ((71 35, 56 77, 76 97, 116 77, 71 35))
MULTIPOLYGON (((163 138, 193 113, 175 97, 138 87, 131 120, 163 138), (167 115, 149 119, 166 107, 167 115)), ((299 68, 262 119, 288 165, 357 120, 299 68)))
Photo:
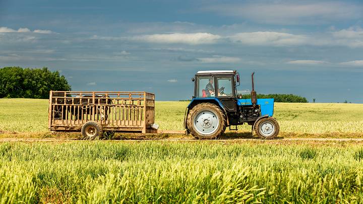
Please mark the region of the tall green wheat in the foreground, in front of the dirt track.
POLYGON ((1 143, 0 202, 361 203, 362 151, 354 143, 1 143))

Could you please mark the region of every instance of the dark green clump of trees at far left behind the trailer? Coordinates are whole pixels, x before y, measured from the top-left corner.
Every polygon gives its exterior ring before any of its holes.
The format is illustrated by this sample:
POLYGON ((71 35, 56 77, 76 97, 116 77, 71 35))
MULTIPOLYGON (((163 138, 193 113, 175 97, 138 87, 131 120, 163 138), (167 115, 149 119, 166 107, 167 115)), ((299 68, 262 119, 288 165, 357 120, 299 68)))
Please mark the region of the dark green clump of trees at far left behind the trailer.
POLYGON ((49 98, 49 91, 70 91, 71 86, 59 72, 21 67, 0 68, 0 98, 49 98))

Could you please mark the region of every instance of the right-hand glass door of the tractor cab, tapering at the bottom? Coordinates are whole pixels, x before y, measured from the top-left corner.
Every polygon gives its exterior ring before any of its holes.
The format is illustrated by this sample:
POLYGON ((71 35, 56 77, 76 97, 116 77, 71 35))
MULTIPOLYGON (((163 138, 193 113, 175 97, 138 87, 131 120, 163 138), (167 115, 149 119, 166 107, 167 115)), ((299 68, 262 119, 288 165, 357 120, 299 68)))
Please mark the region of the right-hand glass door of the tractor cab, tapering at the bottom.
POLYGON ((221 76, 215 78, 216 97, 223 104, 227 112, 237 111, 237 100, 235 96, 234 77, 221 76))

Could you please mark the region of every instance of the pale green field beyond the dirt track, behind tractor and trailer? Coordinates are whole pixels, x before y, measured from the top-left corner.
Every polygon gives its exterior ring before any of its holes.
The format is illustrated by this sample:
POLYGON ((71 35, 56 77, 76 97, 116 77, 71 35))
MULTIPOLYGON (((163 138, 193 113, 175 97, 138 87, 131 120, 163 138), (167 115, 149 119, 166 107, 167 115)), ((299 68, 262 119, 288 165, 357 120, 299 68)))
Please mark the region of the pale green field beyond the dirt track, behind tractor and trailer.
MULTIPOLYGON (((181 130, 188 102, 157 101, 155 122, 160 129, 181 130)), ((0 99, 0 130, 47 132, 48 100, 0 99)), ((326 134, 354 137, 363 132, 363 104, 342 103, 275 103, 274 117, 282 135, 326 134)), ((250 132, 251 126, 240 125, 238 132, 250 132)))

